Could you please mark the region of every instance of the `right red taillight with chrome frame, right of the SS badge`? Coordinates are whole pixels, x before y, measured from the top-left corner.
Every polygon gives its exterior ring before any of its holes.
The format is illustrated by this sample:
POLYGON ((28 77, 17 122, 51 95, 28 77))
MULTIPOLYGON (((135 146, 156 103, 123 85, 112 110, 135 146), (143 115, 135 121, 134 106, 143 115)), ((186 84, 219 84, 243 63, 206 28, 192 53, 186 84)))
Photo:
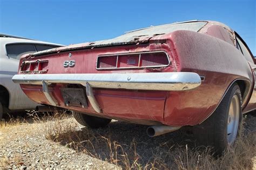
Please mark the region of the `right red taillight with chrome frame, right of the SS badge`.
POLYGON ((165 67, 169 64, 169 56, 164 51, 104 55, 97 59, 97 69, 165 67))

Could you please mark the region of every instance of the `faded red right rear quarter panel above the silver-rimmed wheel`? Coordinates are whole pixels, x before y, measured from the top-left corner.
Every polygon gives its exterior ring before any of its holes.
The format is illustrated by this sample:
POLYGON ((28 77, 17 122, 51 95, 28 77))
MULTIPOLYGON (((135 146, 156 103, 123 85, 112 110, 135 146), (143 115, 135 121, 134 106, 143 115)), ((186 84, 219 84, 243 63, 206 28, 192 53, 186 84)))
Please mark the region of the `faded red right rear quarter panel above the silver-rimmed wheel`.
MULTIPOLYGON (((252 90, 251 67, 231 43, 192 31, 175 31, 165 36, 169 37, 177 71, 196 72, 204 77, 196 90, 169 93, 164 112, 165 124, 201 123, 215 110, 236 79, 248 81, 248 88, 252 90)), ((151 40, 166 38, 165 36, 151 40)), ((243 107, 245 105, 246 101, 243 107)))

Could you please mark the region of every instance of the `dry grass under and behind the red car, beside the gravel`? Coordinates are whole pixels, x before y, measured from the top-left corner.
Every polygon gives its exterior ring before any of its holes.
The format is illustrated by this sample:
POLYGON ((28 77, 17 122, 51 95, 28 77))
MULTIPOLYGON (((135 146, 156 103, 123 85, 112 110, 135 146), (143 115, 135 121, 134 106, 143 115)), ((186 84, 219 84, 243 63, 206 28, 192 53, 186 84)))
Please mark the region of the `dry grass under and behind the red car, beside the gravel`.
MULTIPOLYGON (((256 133, 240 135, 235 146, 229 148, 218 159, 214 158, 210 148, 188 145, 173 145, 163 141, 147 153, 147 159, 139 155, 136 139, 130 145, 121 144, 112 139, 111 131, 100 135, 97 130, 79 128, 74 119, 66 119, 65 114, 51 117, 43 128, 49 140, 84 152, 91 157, 105 160, 124 169, 253 169, 256 162, 256 133), (149 155, 151 154, 151 155, 149 155), (254 165, 253 165, 254 164, 254 165)), ((122 131, 122 130, 120 130, 122 131)), ((123 138, 120 136, 120 138, 123 138)), ((141 143, 141 142, 140 142, 141 143)), ((145 143, 144 145, 147 145, 145 143)))

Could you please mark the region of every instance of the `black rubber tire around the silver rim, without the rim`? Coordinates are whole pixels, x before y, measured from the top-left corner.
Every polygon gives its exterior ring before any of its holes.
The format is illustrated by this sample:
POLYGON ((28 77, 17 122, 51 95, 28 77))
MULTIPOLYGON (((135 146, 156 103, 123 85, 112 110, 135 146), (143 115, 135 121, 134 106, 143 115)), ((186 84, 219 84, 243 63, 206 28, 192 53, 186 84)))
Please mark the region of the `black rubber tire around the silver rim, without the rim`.
POLYGON ((221 155, 228 147, 227 119, 233 96, 237 95, 240 103, 238 133, 241 129, 241 92, 237 83, 230 86, 216 110, 203 123, 193 127, 193 133, 199 145, 211 146, 216 155, 221 155))

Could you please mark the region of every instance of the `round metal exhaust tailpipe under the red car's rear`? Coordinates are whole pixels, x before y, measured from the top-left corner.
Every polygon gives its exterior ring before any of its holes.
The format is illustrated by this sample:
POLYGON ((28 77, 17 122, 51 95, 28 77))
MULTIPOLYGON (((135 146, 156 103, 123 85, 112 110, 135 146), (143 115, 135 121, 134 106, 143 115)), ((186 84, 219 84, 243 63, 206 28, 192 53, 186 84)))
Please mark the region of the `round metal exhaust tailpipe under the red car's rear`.
POLYGON ((161 134, 173 132, 179 130, 181 126, 167 126, 167 125, 157 125, 157 126, 150 126, 147 128, 147 135, 149 137, 156 137, 161 134))

